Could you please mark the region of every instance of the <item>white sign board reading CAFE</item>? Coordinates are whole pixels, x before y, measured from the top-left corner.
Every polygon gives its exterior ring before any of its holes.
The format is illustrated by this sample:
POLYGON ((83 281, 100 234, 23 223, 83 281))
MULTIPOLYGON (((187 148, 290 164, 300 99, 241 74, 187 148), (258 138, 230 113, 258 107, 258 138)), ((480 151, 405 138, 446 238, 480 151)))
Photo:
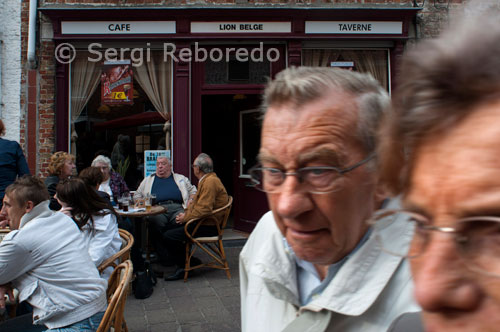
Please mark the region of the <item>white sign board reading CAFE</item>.
POLYGON ((175 33, 175 21, 63 21, 63 35, 133 35, 175 33))

